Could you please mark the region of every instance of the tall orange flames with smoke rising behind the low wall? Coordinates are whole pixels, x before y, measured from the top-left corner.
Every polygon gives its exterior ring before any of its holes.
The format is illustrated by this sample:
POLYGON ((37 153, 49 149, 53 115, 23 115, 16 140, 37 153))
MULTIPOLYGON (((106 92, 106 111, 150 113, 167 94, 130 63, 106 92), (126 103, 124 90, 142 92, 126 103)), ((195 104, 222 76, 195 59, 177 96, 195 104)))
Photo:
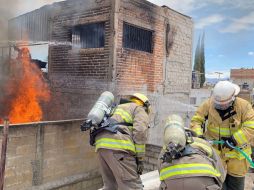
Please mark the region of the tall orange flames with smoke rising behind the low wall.
POLYGON ((28 48, 17 48, 16 59, 6 60, 1 67, 0 120, 8 117, 11 123, 41 121, 40 103, 49 101, 50 91, 42 73, 32 62, 28 48))

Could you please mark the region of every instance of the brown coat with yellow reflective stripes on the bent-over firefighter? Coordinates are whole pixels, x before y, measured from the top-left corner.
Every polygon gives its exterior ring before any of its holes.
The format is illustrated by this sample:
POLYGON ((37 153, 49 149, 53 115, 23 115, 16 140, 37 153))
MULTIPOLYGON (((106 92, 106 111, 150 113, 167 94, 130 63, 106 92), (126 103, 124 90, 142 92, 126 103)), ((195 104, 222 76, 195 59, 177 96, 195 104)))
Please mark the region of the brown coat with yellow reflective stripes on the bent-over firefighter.
MULTIPOLYGON (((197 154, 183 156, 173 160, 172 163, 162 163, 159 160, 160 180, 207 176, 214 178, 218 185, 222 186, 226 173, 219 156, 205 140, 195 137, 193 139, 194 142, 190 145, 197 154)), ((161 155, 164 152, 165 148, 162 149, 161 155)))

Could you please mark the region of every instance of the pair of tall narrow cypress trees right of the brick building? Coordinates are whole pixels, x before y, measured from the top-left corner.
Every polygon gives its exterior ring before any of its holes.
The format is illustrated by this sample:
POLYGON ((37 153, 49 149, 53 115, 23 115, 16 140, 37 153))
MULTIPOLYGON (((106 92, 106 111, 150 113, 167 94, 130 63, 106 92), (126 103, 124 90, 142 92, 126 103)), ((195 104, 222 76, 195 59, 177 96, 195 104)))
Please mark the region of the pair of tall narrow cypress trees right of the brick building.
POLYGON ((199 36, 194 59, 194 70, 200 73, 200 86, 205 82, 205 33, 199 36))

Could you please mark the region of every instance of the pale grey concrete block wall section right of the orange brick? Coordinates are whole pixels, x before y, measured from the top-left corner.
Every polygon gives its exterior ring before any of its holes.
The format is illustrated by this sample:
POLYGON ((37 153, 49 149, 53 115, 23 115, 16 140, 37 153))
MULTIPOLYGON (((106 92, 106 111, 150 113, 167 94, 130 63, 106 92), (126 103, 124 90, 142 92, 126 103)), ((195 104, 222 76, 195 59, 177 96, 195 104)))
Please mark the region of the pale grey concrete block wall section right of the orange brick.
POLYGON ((163 8, 171 46, 165 59, 164 94, 184 94, 191 89, 193 21, 170 8, 163 8), (170 40, 171 39, 171 40, 170 40))

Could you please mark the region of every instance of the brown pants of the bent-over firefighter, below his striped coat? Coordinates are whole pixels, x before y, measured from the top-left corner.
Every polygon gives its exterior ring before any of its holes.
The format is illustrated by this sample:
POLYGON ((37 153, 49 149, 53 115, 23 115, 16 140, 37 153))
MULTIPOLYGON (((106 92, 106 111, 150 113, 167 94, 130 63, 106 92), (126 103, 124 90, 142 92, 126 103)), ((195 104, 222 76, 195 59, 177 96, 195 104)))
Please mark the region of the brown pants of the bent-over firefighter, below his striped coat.
POLYGON ((186 177, 166 179, 161 182, 160 190, 220 190, 212 177, 186 177))

